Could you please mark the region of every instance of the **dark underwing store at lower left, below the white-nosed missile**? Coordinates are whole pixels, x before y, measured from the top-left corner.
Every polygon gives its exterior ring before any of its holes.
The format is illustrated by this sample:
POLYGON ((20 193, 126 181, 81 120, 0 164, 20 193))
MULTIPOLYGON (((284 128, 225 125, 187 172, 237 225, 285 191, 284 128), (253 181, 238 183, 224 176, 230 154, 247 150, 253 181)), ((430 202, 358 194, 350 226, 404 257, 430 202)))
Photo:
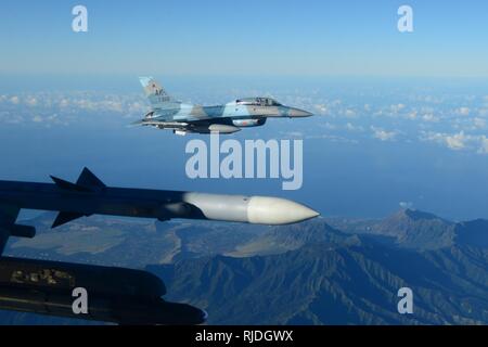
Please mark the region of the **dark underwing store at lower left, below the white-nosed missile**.
POLYGON ((0 309, 119 324, 201 324, 206 312, 162 299, 163 281, 152 273, 68 262, 0 258, 0 309), (76 312, 74 290, 87 293, 76 312))

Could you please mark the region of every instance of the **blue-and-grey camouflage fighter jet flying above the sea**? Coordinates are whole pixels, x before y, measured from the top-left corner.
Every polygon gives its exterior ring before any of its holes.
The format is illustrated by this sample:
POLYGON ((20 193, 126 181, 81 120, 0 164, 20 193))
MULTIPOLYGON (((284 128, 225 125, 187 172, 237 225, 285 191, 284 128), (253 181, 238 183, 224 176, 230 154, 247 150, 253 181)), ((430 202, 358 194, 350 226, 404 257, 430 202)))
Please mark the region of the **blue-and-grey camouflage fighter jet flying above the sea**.
POLYGON ((176 134, 233 133, 241 128, 262 126, 268 117, 301 118, 312 114, 280 104, 271 98, 245 98, 224 105, 185 104, 169 97, 153 77, 140 77, 151 112, 134 125, 172 129, 176 134))

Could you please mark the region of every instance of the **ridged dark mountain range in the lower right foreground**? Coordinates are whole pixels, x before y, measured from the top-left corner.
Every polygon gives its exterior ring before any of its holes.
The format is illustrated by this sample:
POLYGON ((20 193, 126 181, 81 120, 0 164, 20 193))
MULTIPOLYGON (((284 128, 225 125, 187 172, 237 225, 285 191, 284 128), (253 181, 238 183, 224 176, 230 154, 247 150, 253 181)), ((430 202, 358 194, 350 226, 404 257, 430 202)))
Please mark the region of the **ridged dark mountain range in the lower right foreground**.
POLYGON ((147 269, 171 299, 210 312, 210 324, 486 324, 487 264, 486 249, 418 253, 363 241, 147 269), (403 286, 414 293, 413 314, 397 311, 403 286))

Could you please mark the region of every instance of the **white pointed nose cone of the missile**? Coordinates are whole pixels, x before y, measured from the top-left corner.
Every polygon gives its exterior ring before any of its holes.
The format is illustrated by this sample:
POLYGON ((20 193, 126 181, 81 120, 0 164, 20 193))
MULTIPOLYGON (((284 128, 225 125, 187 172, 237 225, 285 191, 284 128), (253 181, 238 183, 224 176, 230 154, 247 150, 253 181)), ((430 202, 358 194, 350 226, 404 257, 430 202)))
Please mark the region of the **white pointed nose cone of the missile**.
POLYGON ((252 196, 247 205, 247 220, 256 224, 291 224, 319 215, 307 206, 280 197, 252 196))

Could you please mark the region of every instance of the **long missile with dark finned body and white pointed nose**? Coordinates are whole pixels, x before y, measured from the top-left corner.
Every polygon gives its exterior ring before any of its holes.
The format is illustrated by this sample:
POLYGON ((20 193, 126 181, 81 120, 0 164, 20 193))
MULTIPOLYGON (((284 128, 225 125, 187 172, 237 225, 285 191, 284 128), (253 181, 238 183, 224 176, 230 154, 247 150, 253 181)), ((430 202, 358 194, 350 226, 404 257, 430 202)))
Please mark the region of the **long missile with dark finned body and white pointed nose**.
MULTIPOLYGON (((76 183, 51 178, 54 183, 0 181, 0 219, 1 209, 15 208, 59 211, 53 228, 91 215, 257 224, 288 224, 319 216, 304 205, 279 197, 111 188, 87 168, 76 183)), ((4 228, 10 229, 12 235, 31 233, 28 227, 13 222, 4 228)))

